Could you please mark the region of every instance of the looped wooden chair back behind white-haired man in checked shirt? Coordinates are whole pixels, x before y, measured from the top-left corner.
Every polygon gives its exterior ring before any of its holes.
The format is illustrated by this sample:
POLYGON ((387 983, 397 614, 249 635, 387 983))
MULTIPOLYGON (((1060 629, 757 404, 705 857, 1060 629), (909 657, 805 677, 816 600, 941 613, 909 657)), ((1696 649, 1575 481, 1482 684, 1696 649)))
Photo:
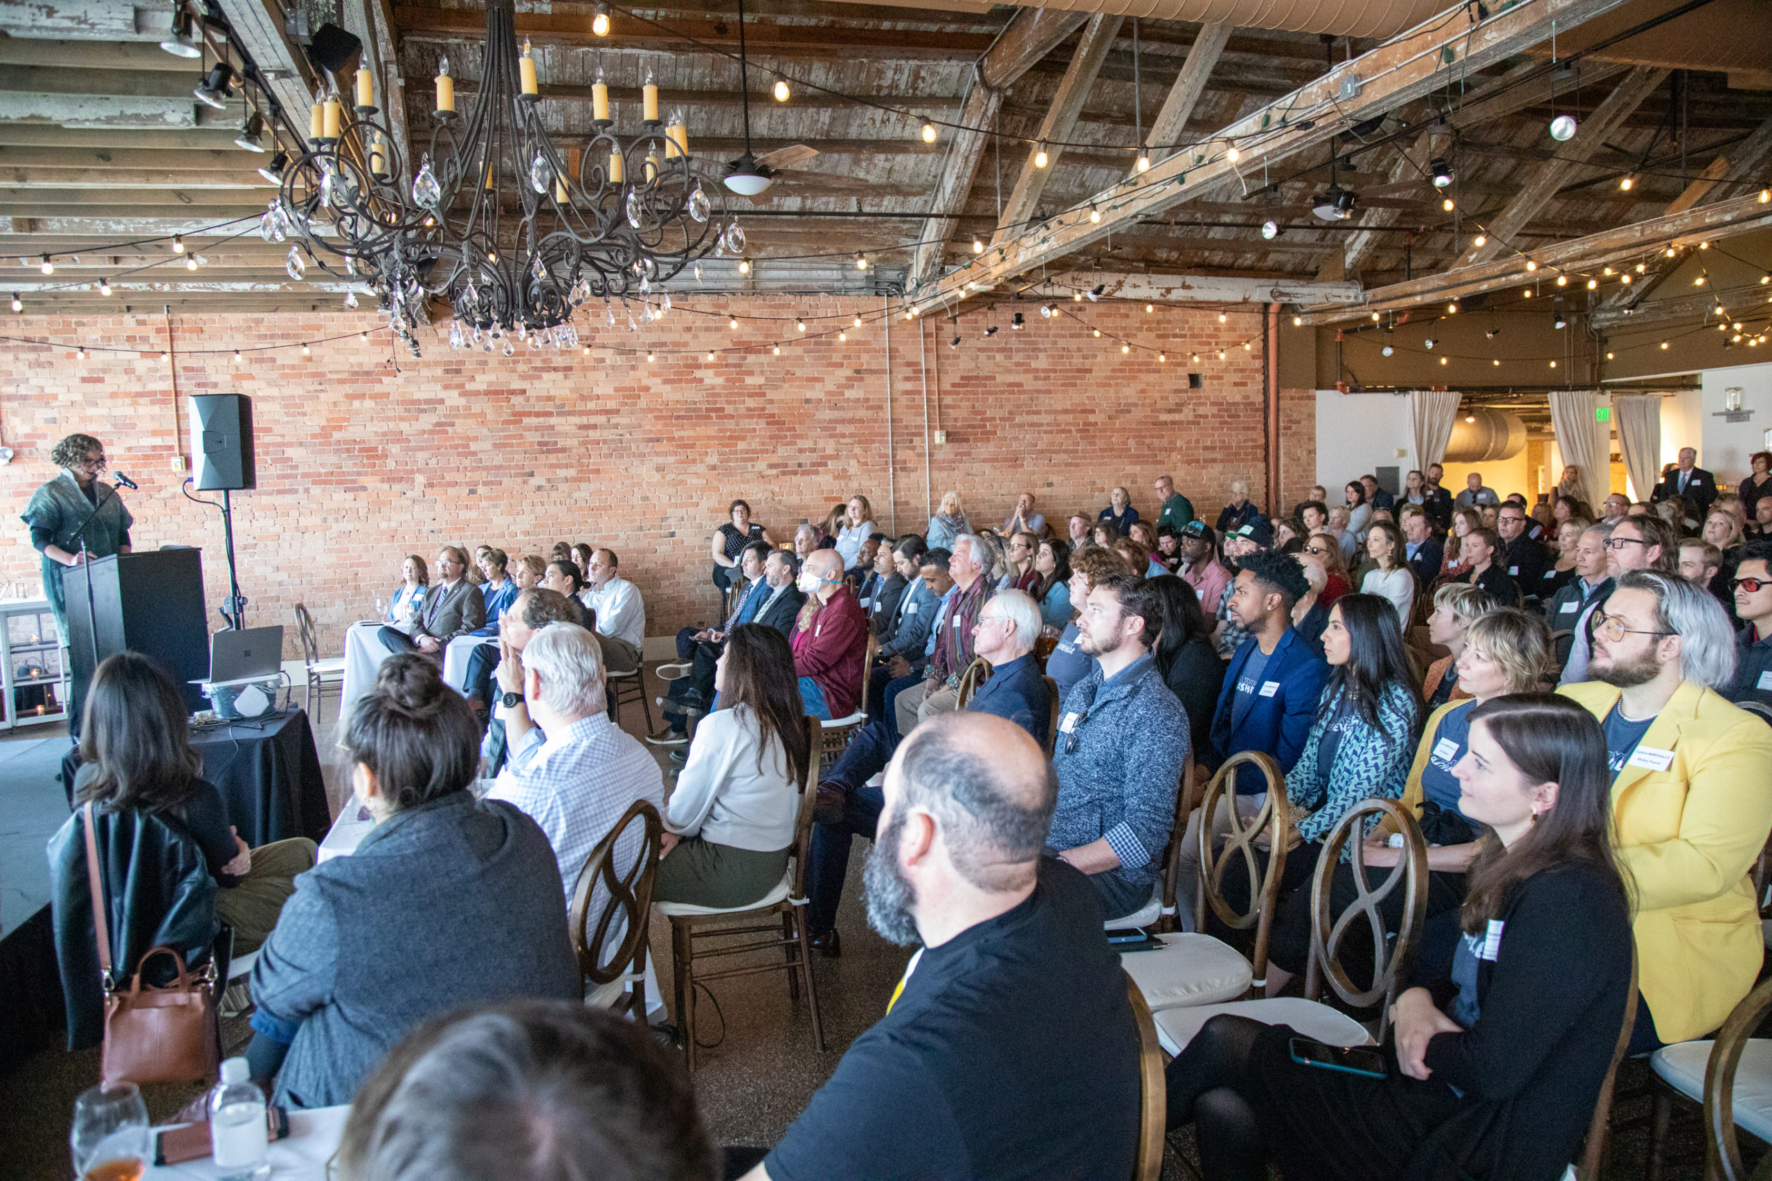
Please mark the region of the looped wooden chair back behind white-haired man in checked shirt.
POLYGON ((647 1018, 647 920, 652 913, 663 833, 664 823, 657 809, 634 800, 622 819, 615 821, 615 828, 592 848, 572 887, 572 952, 578 956, 579 975, 587 981, 585 1004, 627 1009, 636 1021, 647 1018), (624 872, 615 865, 615 848, 636 828, 640 855, 624 872), (597 901, 602 906, 594 911, 597 901))

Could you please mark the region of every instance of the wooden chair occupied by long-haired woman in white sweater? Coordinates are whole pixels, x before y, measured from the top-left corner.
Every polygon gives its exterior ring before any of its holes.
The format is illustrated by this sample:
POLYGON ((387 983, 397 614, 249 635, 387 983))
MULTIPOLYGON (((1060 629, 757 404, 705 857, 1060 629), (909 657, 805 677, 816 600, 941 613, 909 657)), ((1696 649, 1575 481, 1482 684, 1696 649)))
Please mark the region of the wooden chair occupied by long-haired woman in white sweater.
POLYGON ((691 906, 688 903, 657 903, 657 913, 670 919, 672 959, 675 963, 677 1027, 682 1030, 684 1062, 695 1073, 695 986, 757 972, 787 972, 787 993, 790 1000, 799 1000, 799 989, 806 988, 806 1005, 812 1009, 812 1044, 824 1053, 824 1023, 819 1016, 819 988, 812 977, 812 943, 806 933, 806 858, 812 851, 812 805, 819 791, 819 720, 806 718, 806 731, 812 739, 812 757, 806 763, 806 780, 799 789, 799 817, 794 825, 794 856, 781 881, 769 894, 750 906, 714 908, 691 906), (767 919, 758 924, 741 926, 732 920, 767 919), (742 943, 721 943, 718 947, 698 945, 698 940, 728 940, 737 935, 767 935, 762 940, 742 943), (744 952, 767 952, 781 949, 781 959, 766 958, 762 963, 750 963, 719 972, 696 972, 698 959, 716 956, 737 956, 744 952))

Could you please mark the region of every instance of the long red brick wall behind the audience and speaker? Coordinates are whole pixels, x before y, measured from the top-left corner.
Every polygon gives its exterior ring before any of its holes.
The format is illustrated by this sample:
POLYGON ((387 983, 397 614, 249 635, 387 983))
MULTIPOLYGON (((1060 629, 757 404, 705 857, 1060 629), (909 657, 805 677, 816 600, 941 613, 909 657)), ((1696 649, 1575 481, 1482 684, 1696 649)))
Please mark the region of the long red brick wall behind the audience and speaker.
MULTIPOLYGON (((126 493, 136 546, 200 544, 211 601, 220 601, 220 514, 179 495, 184 470, 174 466, 186 445, 184 399, 211 392, 250 394, 257 418, 259 486, 234 498, 248 621, 287 622, 299 599, 330 647, 397 583, 404 553, 429 560, 445 543, 493 543, 512 555, 556 539, 610 544, 645 594, 649 635, 668 635, 716 610, 707 539, 732 497, 746 497, 778 539, 854 491, 870 497, 882 530, 893 514, 900 532, 920 530, 925 456, 934 498, 960 491, 978 523, 1001 521, 1024 488, 1047 516, 1093 514, 1113 484, 1150 512, 1152 481, 1164 472, 1209 516, 1232 479, 1262 488, 1262 353, 1258 340, 1255 351, 1240 348, 1258 333, 1253 312, 1219 325, 1216 310, 1102 303, 1079 307, 1083 319, 1067 309, 1047 321, 1038 305, 1021 305, 1030 325, 1012 332, 1014 309, 999 307, 962 319, 957 349, 948 321, 893 319, 888 349, 879 300, 750 300, 734 310, 778 319, 746 319, 737 332, 727 326, 732 305, 693 307, 719 314, 679 307, 652 332, 587 333, 590 356, 457 353, 445 330, 425 340, 422 360, 402 355, 399 372, 386 332, 315 344, 310 358, 299 348, 232 358, 234 348, 353 333, 369 326, 365 316, 179 317, 177 406, 174 365, 158 355, 78 360, 73 351, 78 342, 165 348, 158 316, 14 317, 9 335, 67 348, 0 344, 0 431, 18 450, 0 466, 0 502, 14 505, 0 530, 0 578, 37 587, 37 555, 16 512, 55 473, 50 445, 87 431, 142 484, 126 493), (851 328, 856 312, 875 319, 851 328), (849 340, 801 340, 797 314, 808 316, 808 337, 842 325, 849 340), (812 319, 836 314, 843 319, 812 319), (1122 355, 1084 321, 1162 348, 1168 362, 1122 355), (1001 325, 994 339, 983 337, 987 323, 1001 325), (771 355, 773 340, 785 342, 781 356, 771 355), (647 342, 698 351, 649 364, 595 348, 647 342), (758 349, 714 362, 700 351, 734 344, 758 349), (1187 388, 1189 369, 1205 374, 1205 388, 1187 388), (948 433, 929 452, 925 379, 929 427, 948 433)), ((1281 415, 1292 497, 1315 470, 1313 410, 1288 390, 1281 415)), ((289 644, 294 654, 292 628, 289 644)))

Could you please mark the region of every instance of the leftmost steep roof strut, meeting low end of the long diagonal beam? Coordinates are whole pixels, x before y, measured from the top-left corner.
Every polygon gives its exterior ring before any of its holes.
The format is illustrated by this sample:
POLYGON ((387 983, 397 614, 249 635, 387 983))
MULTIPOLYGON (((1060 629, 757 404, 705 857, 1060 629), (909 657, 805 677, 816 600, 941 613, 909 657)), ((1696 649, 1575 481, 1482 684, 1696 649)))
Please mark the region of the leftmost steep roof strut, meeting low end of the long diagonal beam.
MULTIPOLYGON (((994 128, 1003 92, 1035 62, 1051 53, 1060 41, 1081 28, 1086 20, 1088 16, 1083 12, 1061 9, 1017 9, 998 43, 978 60, 959 122, 966 128, 994 128)), ((953 225, 941 215, 960 213, 966 207, 973 177, 978 174, 978 161, 983 160, 991 142, 983 131, 953 133, 941 161, 941 176, 936 179, 936 193, 929 202, 929 211, 936 216, 923 223, 920 234, 923 245, 911 262, 913 282, 923 282, 936 275, 943 241, 953 232, 953 225)), ((998 149, 1001 151, 1001 145, 998 149)))

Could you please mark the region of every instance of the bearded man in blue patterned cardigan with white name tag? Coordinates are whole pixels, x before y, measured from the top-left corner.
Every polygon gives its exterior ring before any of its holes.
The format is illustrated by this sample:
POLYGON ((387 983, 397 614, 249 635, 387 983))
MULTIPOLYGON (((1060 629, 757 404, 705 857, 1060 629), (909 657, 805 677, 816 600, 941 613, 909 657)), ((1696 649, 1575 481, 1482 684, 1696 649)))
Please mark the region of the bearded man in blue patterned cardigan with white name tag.
POLYGON ((1187 713, 1150 656, 1162 603, 1143 578, 1102 578, 1079 622, 1095 669, 1061 706, 1047 844, 1090 876, 1113 920, 1145 908, 1157 885, 1189 754, 1187 713))

